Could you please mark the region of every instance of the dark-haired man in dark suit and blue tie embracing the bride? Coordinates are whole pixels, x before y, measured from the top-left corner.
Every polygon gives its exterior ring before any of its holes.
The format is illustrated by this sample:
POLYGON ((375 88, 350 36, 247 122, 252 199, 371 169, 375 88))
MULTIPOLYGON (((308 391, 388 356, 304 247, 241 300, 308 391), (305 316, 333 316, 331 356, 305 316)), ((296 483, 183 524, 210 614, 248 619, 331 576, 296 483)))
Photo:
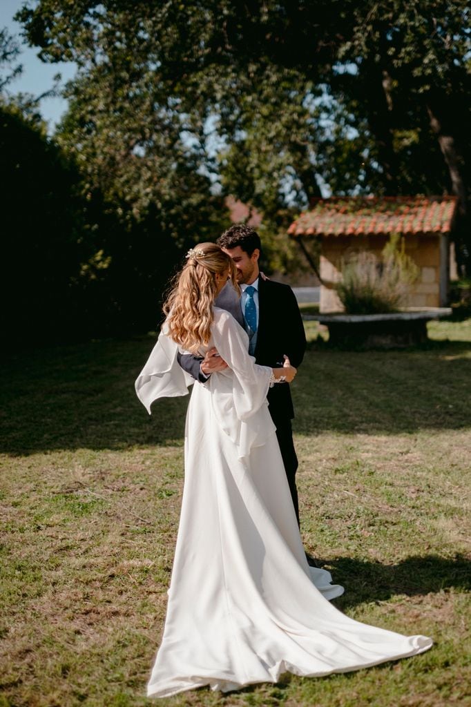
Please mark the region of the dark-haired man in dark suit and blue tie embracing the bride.
MULTIPOLYGON (((226 230, 216 243, 233 259, 242 292, 239 299, 231 284, 226 285, 216 299, 216 306, 231 312, 248 332, 249 353, 255 356, 256 363, 277 368, 283 366, 286 354, 291 365, 298 368, 306 349, 306 336, 298 303, 289 286, 260 276, 260 236, 250 226, 236 224, 226 230)), ((207 380, 211 373, 227 368, 216 349, 208 351, 204 358, 182 354, 178 360, 187 373, 201 382, 207 380)), ((277 427, 281 457, 299 525, 298 491, 295 481, 298 458, 291 430, 294 411, 289 384, 274 385, 269 389, 267 399, 269 413, 277 427)))

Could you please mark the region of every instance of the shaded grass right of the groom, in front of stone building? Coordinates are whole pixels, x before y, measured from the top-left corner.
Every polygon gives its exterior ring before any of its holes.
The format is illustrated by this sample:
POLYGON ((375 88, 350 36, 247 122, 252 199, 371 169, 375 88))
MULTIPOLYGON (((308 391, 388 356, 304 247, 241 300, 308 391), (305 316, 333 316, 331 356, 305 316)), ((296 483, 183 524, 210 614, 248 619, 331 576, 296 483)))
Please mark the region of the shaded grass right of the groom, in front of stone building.
POLYGON ((404 351, 309 351, 293 398, 293 427, 308 436, 469 427, 471 343, 431 341, 404 351))

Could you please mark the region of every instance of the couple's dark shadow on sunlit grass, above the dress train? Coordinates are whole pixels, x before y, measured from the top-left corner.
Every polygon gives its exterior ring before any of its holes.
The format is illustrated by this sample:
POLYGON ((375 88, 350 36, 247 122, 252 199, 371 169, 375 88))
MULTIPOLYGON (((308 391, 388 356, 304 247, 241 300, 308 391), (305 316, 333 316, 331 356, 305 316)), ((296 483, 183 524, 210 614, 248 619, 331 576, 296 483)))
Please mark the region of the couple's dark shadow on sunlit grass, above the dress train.
POLYGON ((345 594, 336 600, 340 609, 383 602, 395 595, 413 597, 450 588, 471 588, 471 562, 459 554, 453 558, 411 556, 395 565, 336 557, 328 562, 328 568, 335 583, 345 588, 345 594))

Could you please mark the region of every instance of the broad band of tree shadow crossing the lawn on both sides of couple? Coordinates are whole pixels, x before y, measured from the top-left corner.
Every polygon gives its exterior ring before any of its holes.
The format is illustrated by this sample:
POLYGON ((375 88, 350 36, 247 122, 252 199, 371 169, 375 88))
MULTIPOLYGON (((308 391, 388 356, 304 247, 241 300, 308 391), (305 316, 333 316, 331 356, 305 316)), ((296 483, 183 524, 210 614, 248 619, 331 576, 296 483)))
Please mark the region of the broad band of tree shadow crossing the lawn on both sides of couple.
MULTIPOLYGON (((0 450, 122 450, 181 445, 188 397, 151 417, 134 379, 154 337, 40 349, 2 365, 0 450)), ((293 384, 294 429, 394 434, 471 426, 471 343, 409 351, 308 351, 293 384)))

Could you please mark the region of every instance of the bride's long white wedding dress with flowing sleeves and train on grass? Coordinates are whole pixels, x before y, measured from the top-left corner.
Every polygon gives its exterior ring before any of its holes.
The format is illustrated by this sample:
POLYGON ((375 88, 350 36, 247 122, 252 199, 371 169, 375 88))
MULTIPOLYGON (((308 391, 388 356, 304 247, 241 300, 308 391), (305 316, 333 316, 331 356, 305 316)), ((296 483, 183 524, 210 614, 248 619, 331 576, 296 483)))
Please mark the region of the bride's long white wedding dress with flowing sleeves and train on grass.
MULTIPOLYGON (((361 624, 330 604, 343 588, 306 562, 267 407, 271 369, 248 355, 228 312, 214 308, 211 331, 208 348, 229 368, 196 382, 188 406, 180 527, 149 696, 228 691, 286 671, 345 672, 430 648, 430 638, 361 624)), ((149 412, 194 382, 177 353, 164 325, 136 380, 149 412)))

